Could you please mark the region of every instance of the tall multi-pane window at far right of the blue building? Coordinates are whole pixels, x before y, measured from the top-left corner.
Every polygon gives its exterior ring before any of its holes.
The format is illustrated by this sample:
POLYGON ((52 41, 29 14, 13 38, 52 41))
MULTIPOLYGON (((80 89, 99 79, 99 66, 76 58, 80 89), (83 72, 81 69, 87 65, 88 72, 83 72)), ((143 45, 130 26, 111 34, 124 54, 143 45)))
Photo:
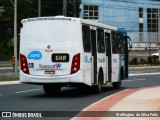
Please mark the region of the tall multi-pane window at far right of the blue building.
POLYGON ((147 8, 148 32, 158 32, 158 9, 147 8))

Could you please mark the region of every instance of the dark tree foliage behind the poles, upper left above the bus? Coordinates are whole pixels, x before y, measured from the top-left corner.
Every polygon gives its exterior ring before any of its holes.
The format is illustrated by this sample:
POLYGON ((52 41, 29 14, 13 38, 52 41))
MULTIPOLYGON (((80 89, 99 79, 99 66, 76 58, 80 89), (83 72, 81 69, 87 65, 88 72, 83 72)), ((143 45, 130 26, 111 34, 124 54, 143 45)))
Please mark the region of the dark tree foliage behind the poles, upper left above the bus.
MULTIPOLYGON (((67 0, 67 16, 74 15, 73 0, 67 0)), ((81 0, 76 0, 76 17, 79 17, 81 0)), ((0 60, 13 51, 14 0, 0 0, 0 60), (9 44, 7 44, 9 42, 9 44)), ((41 16, 63 15, 63 0, 41 0, 41 16)), ((38 0, 17 0, 17 28, 21 20, 38 16, 38 0)), ((8 57, 9 58, 9 57, 8 57)))

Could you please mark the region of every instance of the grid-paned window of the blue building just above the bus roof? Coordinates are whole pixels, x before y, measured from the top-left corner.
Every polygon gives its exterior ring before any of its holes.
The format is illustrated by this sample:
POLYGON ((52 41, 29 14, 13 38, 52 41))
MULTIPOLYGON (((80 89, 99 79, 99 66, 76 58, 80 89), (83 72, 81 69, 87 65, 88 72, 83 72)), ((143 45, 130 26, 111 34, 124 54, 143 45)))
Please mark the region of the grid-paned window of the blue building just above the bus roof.
POLYGON ((84 5, 83 6, 84 19, 98 19, 98 6, 97 5, 84 5))

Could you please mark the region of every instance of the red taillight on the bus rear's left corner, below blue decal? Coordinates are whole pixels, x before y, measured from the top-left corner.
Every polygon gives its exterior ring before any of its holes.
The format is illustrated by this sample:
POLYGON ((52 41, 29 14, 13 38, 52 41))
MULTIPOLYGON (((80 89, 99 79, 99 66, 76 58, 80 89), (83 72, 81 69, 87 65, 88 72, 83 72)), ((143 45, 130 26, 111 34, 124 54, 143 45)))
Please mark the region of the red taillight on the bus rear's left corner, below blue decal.
POLYGON ((28 63, 27 63, 27 59, 24 55, 20 54, 20 63, 21 63, 21 70, 26 73, 29 74, 29 69, 28 69, 28 63))

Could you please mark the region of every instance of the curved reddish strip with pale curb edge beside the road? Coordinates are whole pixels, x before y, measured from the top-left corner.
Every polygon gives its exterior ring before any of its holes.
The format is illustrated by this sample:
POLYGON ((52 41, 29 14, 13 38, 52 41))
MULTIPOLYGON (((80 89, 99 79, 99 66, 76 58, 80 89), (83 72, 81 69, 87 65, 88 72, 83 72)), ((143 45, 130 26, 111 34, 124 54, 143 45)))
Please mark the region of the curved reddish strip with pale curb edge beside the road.
POLYGON ((89 117, 90 120, 100 120, 101 117, 103 117, 106 114, 106 112, 109 111, 110 108, 112 108, 113 105, 115 105, 117 102, 119 102, 120 100, 122 100, 123 98, 128 96, 129 94, 132 94, 138 90, 139 89, 126 89, 126 90, 120 91, 118 93, 115 93, 111 96, 108 96, 106 98, 103 98, 103 99, 91 104, 87 108, 83 109, 82 110, 83 112, 80 112, 71 120, 85 120, 86 117, 89 116, 88 112, 90 112, 90 111, 103 111, 101 114, 97 113, 96 116, 89 117))

